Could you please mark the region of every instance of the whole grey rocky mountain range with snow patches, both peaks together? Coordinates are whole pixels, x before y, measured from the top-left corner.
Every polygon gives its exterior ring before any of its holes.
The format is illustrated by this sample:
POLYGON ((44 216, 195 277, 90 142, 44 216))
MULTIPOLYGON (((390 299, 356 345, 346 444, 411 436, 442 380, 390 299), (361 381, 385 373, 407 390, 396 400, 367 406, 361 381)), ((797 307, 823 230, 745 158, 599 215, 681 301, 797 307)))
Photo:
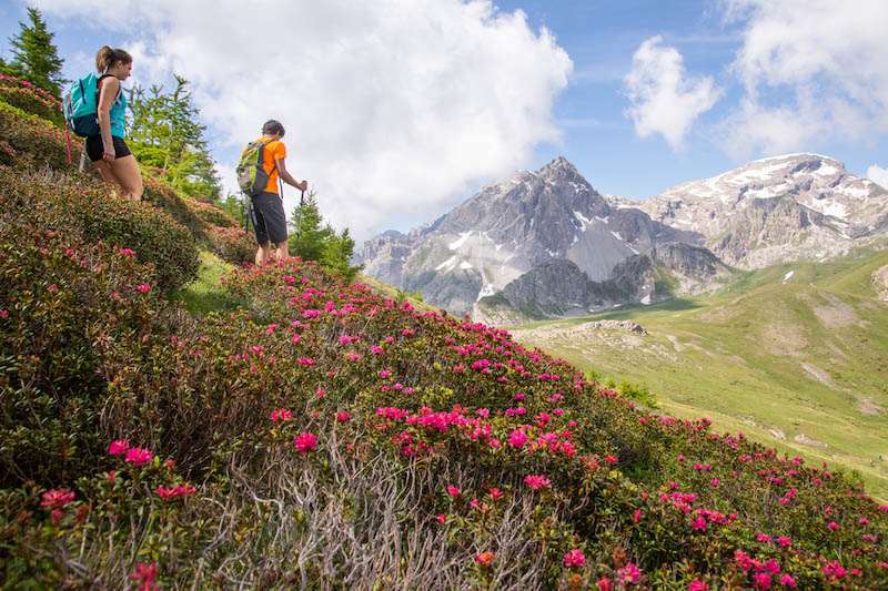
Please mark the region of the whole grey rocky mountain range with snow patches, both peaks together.
POLYGON ((558 157, 367 241, 362 258, 371 276, 503 324, 713 291, 726 263, 825 258, 886 235, 888 191, 826 156, 750 162, 645 202, 602 196, 558 157))

